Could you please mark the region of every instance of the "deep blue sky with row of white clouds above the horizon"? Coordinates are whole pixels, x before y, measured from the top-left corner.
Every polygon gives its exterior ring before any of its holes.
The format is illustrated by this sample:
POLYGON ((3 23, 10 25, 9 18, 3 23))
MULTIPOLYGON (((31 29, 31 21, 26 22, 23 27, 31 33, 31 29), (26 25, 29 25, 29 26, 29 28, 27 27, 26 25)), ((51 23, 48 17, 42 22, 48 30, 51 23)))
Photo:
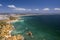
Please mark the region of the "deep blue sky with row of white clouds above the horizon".
POLYGON ((0 13, 60 13, 60 0, 0 0, 0 13))

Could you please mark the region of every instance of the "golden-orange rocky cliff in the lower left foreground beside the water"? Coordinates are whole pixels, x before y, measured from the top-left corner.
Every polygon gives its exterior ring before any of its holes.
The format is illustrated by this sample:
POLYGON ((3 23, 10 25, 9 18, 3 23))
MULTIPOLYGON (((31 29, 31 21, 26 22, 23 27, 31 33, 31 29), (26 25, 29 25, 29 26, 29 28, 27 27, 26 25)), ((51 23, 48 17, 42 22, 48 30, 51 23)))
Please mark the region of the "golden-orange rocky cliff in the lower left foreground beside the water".
POLYGON ((0 40, 24 40, 24 37, 20 34, 11 35, 11 32, 15 29, 13 25, 7 22, 0 22, 0 40))

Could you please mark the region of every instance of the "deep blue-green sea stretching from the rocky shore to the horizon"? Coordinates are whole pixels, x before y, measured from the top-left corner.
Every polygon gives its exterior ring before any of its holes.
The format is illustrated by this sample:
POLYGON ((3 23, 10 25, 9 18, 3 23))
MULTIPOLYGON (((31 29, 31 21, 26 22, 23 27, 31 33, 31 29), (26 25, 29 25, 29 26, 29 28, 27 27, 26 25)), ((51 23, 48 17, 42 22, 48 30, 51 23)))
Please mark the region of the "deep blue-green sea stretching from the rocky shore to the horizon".
POLYGON ((25 40, 60 40, 60 15, 23 16, 13 23, 12 35, 21 34, 25 40), (33 38, 26 33, 31 31, 33 38))

